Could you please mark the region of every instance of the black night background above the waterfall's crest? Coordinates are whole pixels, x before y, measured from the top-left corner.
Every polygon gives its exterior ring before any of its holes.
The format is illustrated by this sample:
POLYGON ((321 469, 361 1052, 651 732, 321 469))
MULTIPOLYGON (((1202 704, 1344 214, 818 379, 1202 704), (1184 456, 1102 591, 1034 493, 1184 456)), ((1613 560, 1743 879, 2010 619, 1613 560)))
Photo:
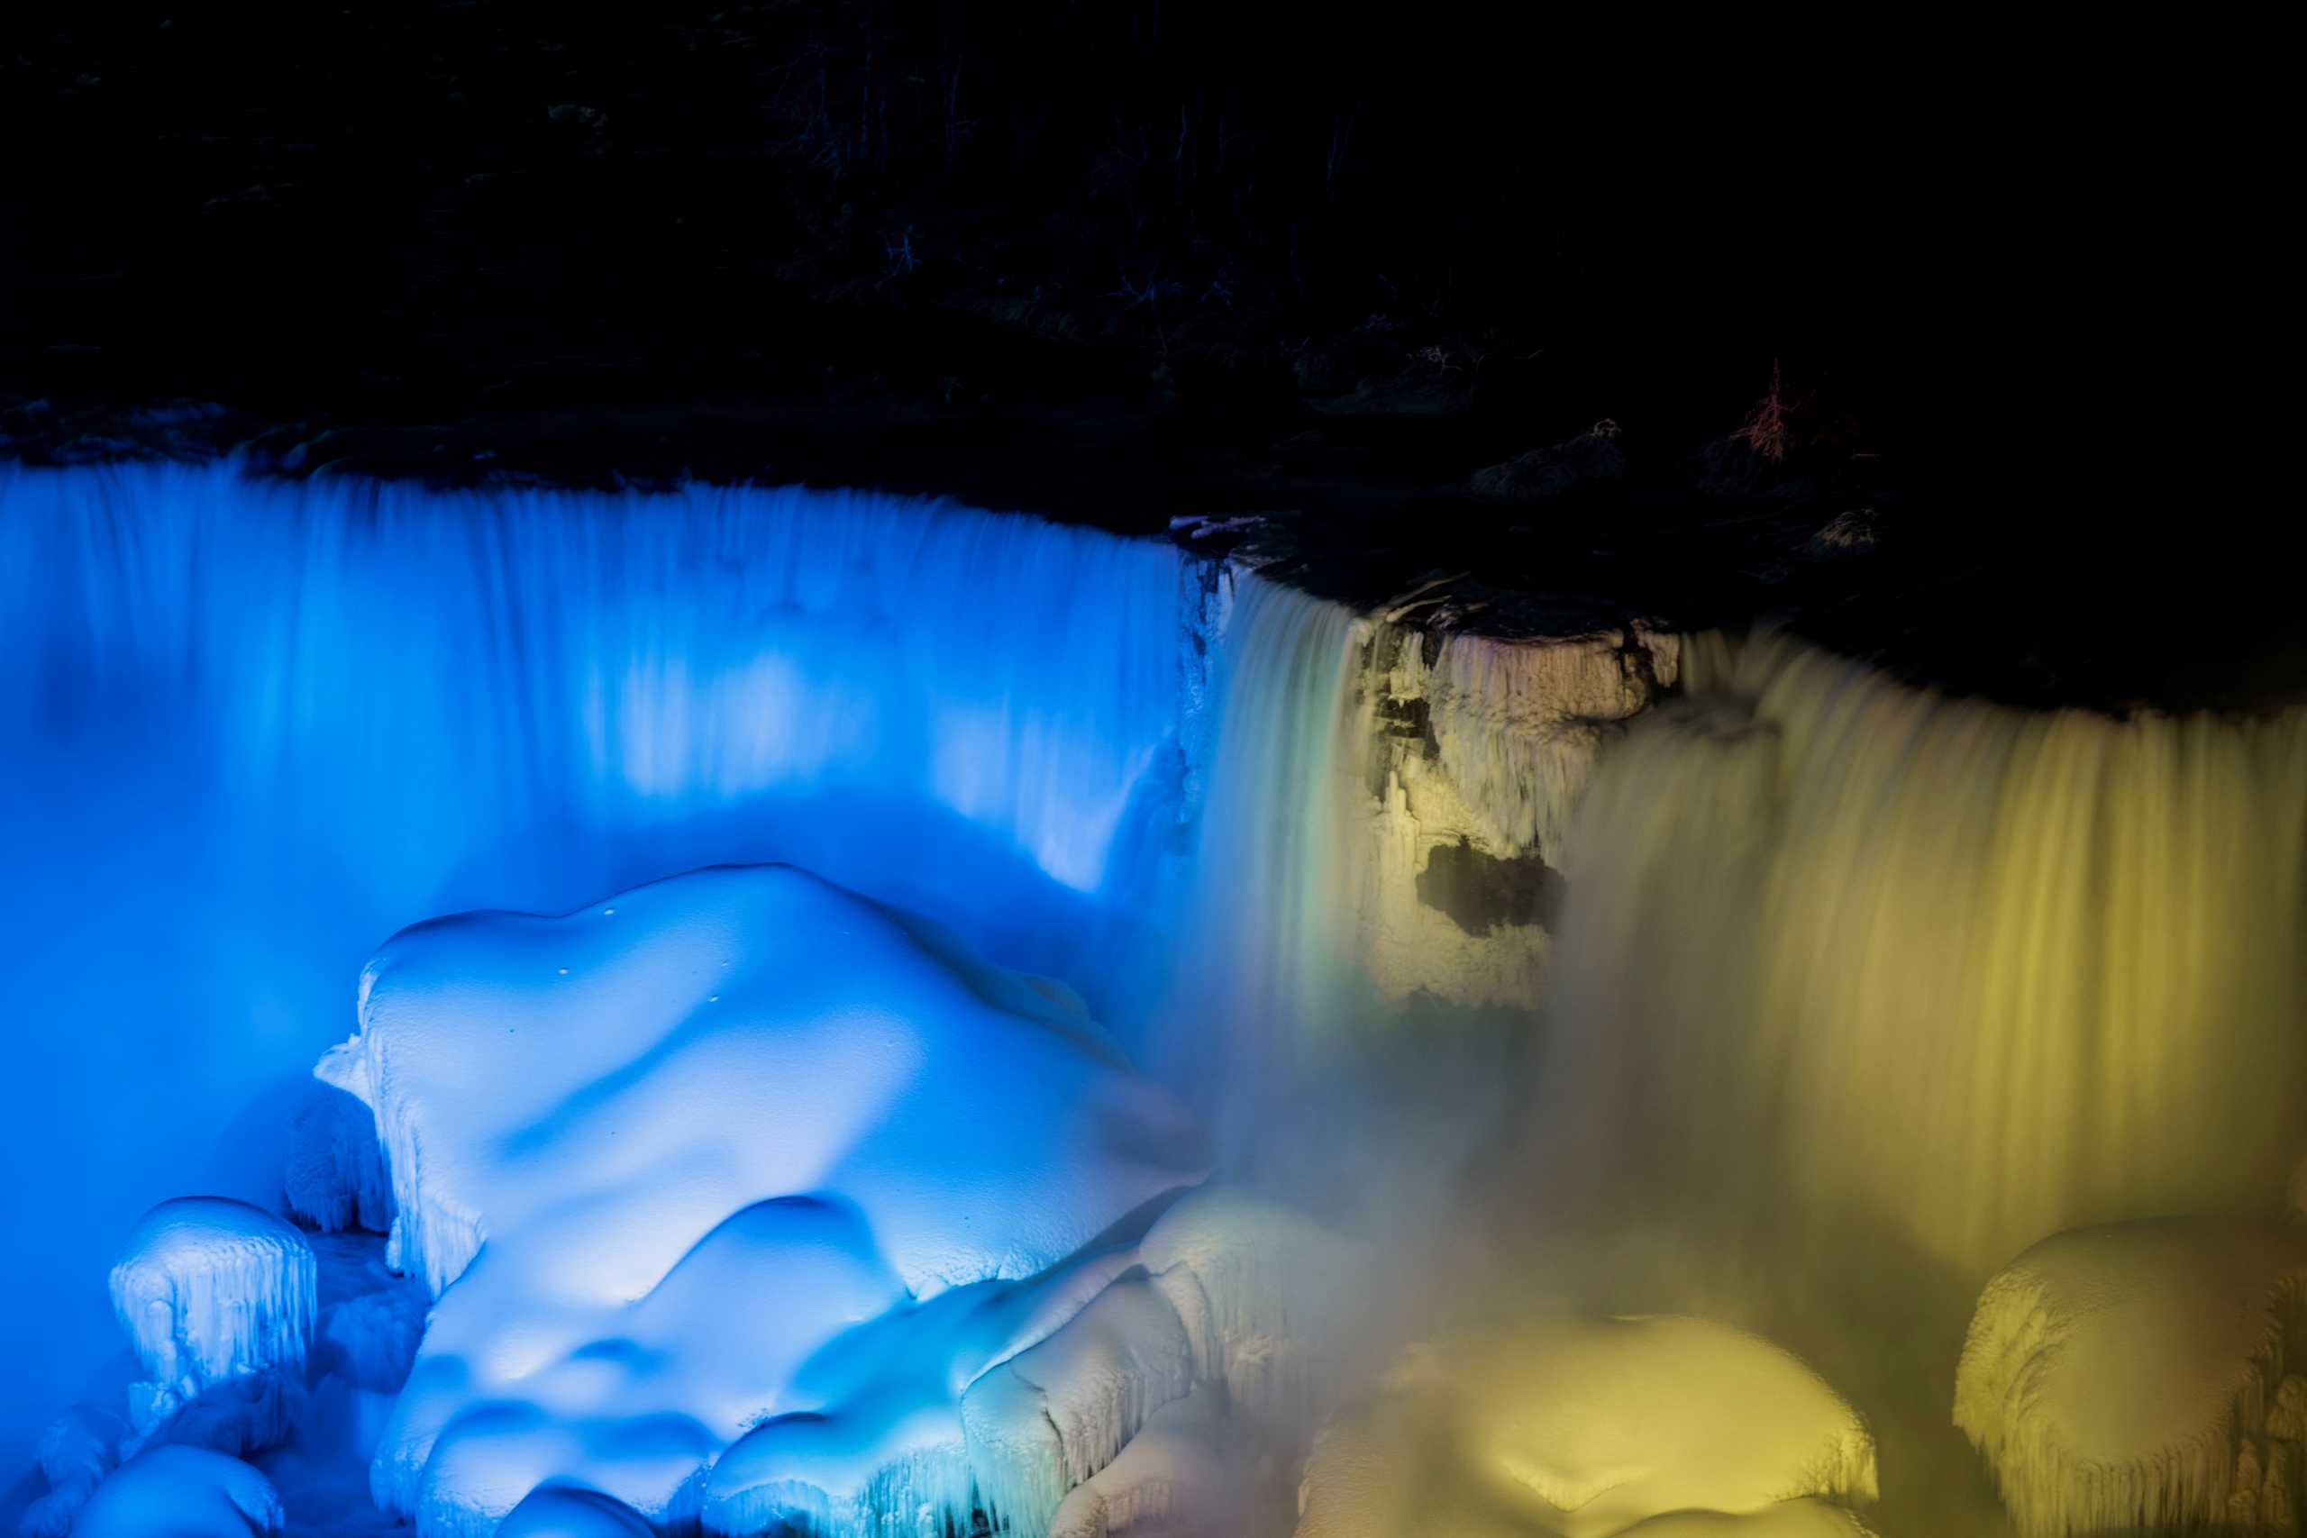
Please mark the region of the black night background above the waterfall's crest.
POLYGON ((23 5, 0 452, 1287 510, 1363 597, 1788 609, 2019 699, 2282 676, 2263 44, 1686 25, 23 5), (1733 438, 1774 369, 1786 459, 1733 438), (1467 496, 1601 420, 1622 475, 1467 496), (1853 510, 1883 553, 1804 553, 1853 510))

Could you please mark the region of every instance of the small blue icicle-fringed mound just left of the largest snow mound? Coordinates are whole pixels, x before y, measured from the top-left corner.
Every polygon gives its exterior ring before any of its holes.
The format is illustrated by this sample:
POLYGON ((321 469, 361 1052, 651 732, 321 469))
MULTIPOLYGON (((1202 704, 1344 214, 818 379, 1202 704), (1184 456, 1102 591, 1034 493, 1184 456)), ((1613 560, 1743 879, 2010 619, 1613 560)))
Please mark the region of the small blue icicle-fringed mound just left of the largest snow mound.
POLYGON ((111 1291, 145 1370, 129 1388, 141 1434, 226 1386, 219 1402, 256 1404, 240 1441, 284 1430, 277 1384, 305 1367, 318 1298, 302 1234, 228 1197, 161 1201, 129 1234, 111 1291))

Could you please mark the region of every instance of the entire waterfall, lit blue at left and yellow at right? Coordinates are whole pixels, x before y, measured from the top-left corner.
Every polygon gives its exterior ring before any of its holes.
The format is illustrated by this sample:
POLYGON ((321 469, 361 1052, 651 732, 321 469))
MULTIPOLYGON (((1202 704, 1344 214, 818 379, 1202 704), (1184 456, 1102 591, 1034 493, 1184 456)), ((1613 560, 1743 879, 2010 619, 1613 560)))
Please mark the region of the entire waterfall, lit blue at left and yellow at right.
MULTIPOLYGON (((2019 1247, 2268 1211, 2307 1153, 2307 713, 2030 715, 1638 623, 1405 629, 863 493, 115 468, 0 475, 0 1153, 44 1171, 5 1215, 37 1257, 0 1321, 16 1464, 102 1379, 88 1280, 136 1213, 275 1201, 383 936, 708 862, 791 860, 1075 985, 1232 1174, 1303 1144, 1253 1174, 1338 1176, 1373 1254, 1449 1261, 1403 1280, 1416 1328, 1583 1266, 1866 1400, 1894 1335, 1952 1372, 1947 1319, 2019 1247), (1310 1049, 1421 996, 1536 1005, 1527 1077, 1479 1031, 1456 1077, 1435 1038, 1310 1049), (1497 1158, 1525 1137, 1534 1181, 1497 1158), (1650 1234, 1516 1247, 1532 1213, 1650 1234), (1684 1227, 1827 1307, 1719 1266, 1689 1296, 1684 1227), (1645 1291, 1622 1261, 1661 1229, 1679 1275, 1645 1291)), ((1873 1390, 1945 1430, 1936 1390, 1873 1390)))

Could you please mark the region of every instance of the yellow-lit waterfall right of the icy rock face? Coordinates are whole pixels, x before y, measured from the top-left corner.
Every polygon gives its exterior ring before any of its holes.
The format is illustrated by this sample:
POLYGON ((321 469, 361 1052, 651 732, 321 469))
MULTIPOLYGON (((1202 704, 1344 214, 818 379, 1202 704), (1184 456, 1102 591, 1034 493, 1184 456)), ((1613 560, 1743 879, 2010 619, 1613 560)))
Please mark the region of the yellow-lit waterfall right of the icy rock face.
POLYGON ((2307 1155, 2307 713, 2116 722, 1684 653, 1566 851, 1562 1201, 1896 1243, 2275 1211, 2307 1155))

